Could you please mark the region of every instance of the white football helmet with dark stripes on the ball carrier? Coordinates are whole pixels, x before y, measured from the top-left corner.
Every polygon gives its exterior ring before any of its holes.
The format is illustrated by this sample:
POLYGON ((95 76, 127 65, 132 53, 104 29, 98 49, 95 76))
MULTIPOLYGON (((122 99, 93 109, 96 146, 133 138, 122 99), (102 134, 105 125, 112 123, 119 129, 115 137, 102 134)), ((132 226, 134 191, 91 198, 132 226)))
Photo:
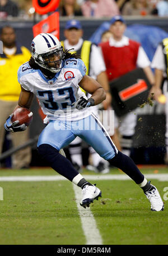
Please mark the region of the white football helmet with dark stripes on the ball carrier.
POLYGON ((49 33, 36 35, 31 43, 31 56, 41 68, 58 73, 64 66, 64 51, 57 37, 49 33))

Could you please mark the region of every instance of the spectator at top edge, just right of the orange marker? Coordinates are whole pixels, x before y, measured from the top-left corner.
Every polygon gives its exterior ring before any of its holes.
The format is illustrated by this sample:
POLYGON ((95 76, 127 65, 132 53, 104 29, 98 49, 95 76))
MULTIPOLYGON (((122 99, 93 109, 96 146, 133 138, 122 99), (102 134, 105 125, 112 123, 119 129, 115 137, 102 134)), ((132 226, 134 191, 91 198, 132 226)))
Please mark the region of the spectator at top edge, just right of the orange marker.
POLYGON ((62 0, 59 5, 60 16, 82 16, 80 5, 76 0, 62 0))

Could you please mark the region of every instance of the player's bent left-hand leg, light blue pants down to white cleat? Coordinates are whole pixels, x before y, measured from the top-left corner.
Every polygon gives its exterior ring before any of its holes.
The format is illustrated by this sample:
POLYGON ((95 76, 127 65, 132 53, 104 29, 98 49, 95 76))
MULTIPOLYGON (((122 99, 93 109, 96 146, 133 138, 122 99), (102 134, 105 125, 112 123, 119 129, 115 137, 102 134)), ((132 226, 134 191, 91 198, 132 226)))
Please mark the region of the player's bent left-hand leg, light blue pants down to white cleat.
MULTIPOLYGON (((71 123, 71 122, 69 122, 71 123)), ((101 196, 99 188, 92 185, 90 182, 81 176, 74 169, 71 161, 59 153, 59 150, 71 143, 76 136, 60 122, 50 122, 43 132, 41 132, 38 141, 39 154, 49 163, 49 166, 56 170, 59 174, 69 179, 77 186, 82 188, 82 191, 88 195, 87 200, 82 204, 86 208, 94 199, 101 196)))

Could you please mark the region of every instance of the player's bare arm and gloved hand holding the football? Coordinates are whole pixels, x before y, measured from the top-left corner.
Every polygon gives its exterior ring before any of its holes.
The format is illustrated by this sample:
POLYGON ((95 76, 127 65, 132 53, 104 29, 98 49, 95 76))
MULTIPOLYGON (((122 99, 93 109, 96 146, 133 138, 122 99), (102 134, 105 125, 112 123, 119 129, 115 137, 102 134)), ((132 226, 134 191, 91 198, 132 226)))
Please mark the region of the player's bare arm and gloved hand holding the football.
MULTIPOLYGON (((20 97, 18 100, 18 105, 15 107, 13 111, 15 111, 18 107, 26 107, 30 108, 31 102, 33 99, 33 93, 25 91, 25 89, 21 88, 20 97)), ((21 124, 18 125, 18 121, 12 122, 13 113, 7 118, 6 123, 4 124, 4 128, 8 132, 22 132, 26 130, 26 125, 21 124)))

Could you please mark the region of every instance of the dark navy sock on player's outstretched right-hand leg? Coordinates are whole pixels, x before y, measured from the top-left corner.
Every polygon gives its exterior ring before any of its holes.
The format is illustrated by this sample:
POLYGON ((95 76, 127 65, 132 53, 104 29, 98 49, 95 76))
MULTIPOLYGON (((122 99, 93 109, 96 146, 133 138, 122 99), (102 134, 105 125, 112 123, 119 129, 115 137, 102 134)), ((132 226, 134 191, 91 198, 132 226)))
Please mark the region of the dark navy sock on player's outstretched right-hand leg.
POLYGON ((144 176, 138 169, 134 161, 129 156, 118 151, 114 158, 108 160, 111 165, 123 170, 134 182, 140 184, 143 182, 144 176))

